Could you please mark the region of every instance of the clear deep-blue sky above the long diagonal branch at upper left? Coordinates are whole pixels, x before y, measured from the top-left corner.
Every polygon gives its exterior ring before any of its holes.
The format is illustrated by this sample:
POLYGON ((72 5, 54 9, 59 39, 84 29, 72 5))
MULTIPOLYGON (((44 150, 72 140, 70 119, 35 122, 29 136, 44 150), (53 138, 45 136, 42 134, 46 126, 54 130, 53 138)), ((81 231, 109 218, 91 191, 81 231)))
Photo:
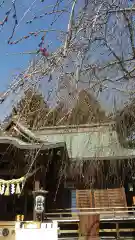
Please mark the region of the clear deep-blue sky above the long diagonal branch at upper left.
MULTIPOLYGON (((0 3, 2 0, 0 0, 0 3)), ((26 21, 33 18, 35 15, 39 16, 44 12, 51 11, 52 8, 48 8, 49 5, 52 5, 56 2, 56 0, 45 0, 44 3, 41 3, 40 0, 16 0, 16 8, 17 8, 17 18, 19 22, 19 26, 16 29, 13 40, 17 40, 22 36, 27 35, 29 32, 48 29, 50 23, 53 20, 54 16, 46 16, 43 19, 33 21, 32 24, 26 24, 26 21), (28 8, 31 7, 30 11, 27 12, 28 8), (25 17, 24 14, 27 12, 25 17), (23 18, 23 19, 22 19, 23 18)), ((65 1, 64 1, 65 2, 65 1)), ((67 1, 68 2, 68 1, 67 1)), ((5 13, 11 7, 11 0, 5 0, 4 5, 0 8, 0 21, 2 21, 5 17, 5 13)), ((68 13, 63 14, 62 17, 57 20, 57 22, 53 25, 53 29, 62 29, 65 30, 67 27, 68 21, 68 13)), ((11 17, 8 22, 4 25, 4 28, 0 32, 0 92, 4 91, 9 83, 13 79, 13 75, 18 74, 21 70, 27 68, 29 60, 34 57, 33 55, 20 55, 14 53, 20 52, 29 52, 35 51, 38 48, 38 44, 40 42, 40 37, 32 37, 30 39, 24 40, 17 45, 8 45, 7 40, 12 32, 14 20, 11 17)), ((49 51, 53 51, 60 45, 60 42, 56 38, 55 33, 49 33, 46 36, 46 45, 50 45, 49 51)))

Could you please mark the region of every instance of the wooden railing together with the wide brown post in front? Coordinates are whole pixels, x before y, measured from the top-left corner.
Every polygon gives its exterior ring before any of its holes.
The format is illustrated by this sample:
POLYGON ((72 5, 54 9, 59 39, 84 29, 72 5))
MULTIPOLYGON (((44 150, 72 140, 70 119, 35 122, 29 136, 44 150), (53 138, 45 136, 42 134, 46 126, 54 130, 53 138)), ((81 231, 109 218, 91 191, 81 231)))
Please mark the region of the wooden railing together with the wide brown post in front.
POLYGON ((61 209, 47 214, 49 218, 58 220, 60 238, 99 240, 99 237, 125 239, 126 236, 135 236, 135 211, 132 207, 127 210, 125 207, 74 210, 74 213, 71 209, 61 209), (101 217, 104 215, 106 217, 101 217))

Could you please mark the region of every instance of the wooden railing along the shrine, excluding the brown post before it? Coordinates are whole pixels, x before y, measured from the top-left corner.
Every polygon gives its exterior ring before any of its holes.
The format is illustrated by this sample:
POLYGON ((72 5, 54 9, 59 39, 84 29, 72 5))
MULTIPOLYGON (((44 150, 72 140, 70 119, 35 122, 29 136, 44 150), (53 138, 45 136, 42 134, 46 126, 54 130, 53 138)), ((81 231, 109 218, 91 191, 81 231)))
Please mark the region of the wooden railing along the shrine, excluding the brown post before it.
MULTIPOLYGON (((125 236, 135 236, 135 210, 133 207, 128 207, 128 210, 125 210, 125 207, 59 209, 59 212, 47 214, 48 218, 58 220, 61 238, 79 237, 79 240, 81 239, 80 216, 83 215, 100 215, 99 235, 106 237, 107 240, 110 237, 111 239, 125 239, 125 236), (102 214, 106 217, 102 218, 102 214)), ((92 240, 92 238, 90 239, 92 240)), ((98 238, 95 237, 95 239, 98 238)))

